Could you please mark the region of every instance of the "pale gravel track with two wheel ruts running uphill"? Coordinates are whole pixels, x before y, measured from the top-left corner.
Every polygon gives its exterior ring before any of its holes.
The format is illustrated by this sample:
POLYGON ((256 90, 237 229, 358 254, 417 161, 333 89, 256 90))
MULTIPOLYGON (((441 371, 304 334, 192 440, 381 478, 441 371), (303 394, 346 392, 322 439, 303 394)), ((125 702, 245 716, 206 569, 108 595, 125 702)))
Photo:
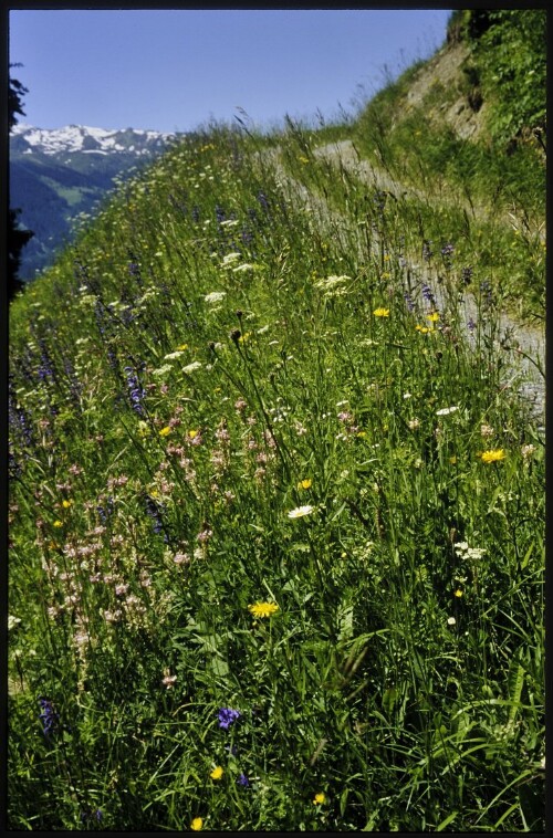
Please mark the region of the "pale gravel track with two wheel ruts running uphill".
MULTIPOLYGON (((420 190, 405 187, 387 172, 375 169, 367 160, 361 160, 351 140, 322 146, 315 150, 315 154, 331 160, 336 166, 344 166, 344 168, 375 189, 385 189, 397 197, 415 195, 418 198, 428 200, 428 197, 420 190)), ((276 169, 281 185, 289 192, 289 196, 293 197, 295 202, 300 199, 304 210, 312 214, 317 222, 322 223, 330 234, 338 238, 343 244, 351 247, 357 243, 357 247, 361 248, 358 237, 355 241, 353 239, 352 228, 347 219, 335 210, 332 210, 324 198, 314 195, 289 175, 279 160, 278 149, 272 149, 270 158, 276 169)), ((444 308, 446 303, 445 290, 429 272, 428 265, 426 263, 420 264, 416 260, 410 259, 408 260, 408 266, 417 283, 420 285, 426 283, 430 286, 438 307, 444 308)), ((462 320, 467 324, 471 320, 476 322, 478 305, 474 297, 466 293, 459 305, 461 307, 459 312, 461 322, 462 320)), ((471 336, 469 331, 467 331, 467 339, 469 345, 474 345, 474 337, 471 336)), ((539 432, 543 434, 545 432, 544 329, 523 325, 514 321, 507 313, 501 313, 494 346, 498 353, 507 356, 508 360, 504 365, 503 386, 505 388, 518 387, 521 395, 531 405, 532 418, 536 422, 539 432)))

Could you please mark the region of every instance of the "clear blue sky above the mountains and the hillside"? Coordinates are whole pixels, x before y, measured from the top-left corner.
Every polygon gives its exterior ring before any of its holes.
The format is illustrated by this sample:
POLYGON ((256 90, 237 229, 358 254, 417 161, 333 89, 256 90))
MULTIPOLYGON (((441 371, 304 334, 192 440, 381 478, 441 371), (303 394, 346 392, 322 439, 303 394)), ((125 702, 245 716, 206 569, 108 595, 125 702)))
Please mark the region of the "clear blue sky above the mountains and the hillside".
POLYGON ((41 128, 257 127, 284 114, 326 121, 374 94, 446 39, 449 11, 12 10, 10 62, 28 88, 21 122, 41 128), (362 94, 363 95, 363 94, 362 94))

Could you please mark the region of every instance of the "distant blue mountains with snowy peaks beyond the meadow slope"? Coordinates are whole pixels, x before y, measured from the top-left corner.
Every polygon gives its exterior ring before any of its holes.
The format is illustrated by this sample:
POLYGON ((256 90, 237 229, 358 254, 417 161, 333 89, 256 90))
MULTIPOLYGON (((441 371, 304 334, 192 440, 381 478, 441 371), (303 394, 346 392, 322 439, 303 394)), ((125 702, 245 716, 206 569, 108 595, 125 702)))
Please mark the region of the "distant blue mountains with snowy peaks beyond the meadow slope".
POLYGON ((72 237, 73 222, 91 213, 114 187, 161 154, 178 134, 137 128, 19 123, 10 134, 10 206, 34 232, 21 254, 20 277, 34 277, 72 237))

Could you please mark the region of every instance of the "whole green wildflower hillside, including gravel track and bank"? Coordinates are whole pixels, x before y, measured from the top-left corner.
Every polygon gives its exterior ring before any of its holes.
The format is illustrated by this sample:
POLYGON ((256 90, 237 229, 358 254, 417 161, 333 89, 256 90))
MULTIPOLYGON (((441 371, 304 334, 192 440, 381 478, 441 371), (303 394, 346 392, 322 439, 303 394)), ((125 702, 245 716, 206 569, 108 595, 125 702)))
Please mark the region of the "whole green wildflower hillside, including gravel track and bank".
POLYGON ((15 294, 10 829, 544 830, 545 17, 181 136, 15 294))

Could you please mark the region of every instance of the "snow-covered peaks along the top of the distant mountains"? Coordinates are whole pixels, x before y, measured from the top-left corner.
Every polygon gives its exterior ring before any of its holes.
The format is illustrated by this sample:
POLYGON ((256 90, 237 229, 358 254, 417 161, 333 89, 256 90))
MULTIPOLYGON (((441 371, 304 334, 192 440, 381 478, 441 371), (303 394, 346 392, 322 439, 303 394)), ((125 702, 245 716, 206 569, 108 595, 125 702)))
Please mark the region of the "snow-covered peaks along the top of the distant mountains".
POLYGON ((12 129, 10 140, 18 138, 17 147, 22 154, 134 151, 137 155, 147 155, 150 154, 153 145, 164 145, 174 136, 175 134, 138 128, 93 128, 87 125, 36 128, 20 123, 12 129), (23 148, 23 144, 28 147, 23 148))

